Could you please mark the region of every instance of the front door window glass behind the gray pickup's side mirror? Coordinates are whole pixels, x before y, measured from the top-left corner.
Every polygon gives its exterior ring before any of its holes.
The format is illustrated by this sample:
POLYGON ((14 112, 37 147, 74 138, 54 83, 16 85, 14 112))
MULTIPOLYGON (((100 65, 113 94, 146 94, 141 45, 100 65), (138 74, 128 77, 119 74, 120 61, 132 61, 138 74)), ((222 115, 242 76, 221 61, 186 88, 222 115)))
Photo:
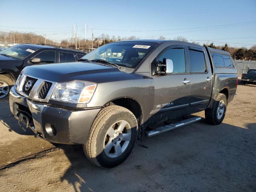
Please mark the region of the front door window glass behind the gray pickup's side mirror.
POLYGON ((157 60, 163 63, 164 58, 172 60, 173 73, 185 73, 185 51, 183 48, 163 50, 157 56, 157 60))

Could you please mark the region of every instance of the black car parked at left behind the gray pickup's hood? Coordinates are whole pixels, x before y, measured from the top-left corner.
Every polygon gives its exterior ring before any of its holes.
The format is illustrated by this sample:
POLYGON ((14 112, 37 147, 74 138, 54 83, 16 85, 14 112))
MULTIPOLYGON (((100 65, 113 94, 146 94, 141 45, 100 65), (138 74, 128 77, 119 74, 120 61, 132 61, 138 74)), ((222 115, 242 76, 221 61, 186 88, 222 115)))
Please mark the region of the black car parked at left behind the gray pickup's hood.
POLYGON ((18 44, 0 52, 0 98, 7 97, 26 66, 74 62, 86 53, 53 45, 18 44))

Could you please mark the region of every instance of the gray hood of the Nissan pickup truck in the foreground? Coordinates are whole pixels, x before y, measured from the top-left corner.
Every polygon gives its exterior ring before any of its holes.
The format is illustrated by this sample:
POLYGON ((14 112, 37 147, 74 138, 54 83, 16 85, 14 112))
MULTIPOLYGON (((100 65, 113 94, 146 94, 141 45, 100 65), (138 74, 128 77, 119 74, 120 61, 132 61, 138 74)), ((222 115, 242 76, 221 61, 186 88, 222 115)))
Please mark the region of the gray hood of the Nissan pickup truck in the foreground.
POLYGON ((124 72, 121 72, 118 68, 102 64, 71 62, 29 66, 25 67, 22 73, 53 82, 68 82, 72 80, 99 82, 106 76, 124 72))

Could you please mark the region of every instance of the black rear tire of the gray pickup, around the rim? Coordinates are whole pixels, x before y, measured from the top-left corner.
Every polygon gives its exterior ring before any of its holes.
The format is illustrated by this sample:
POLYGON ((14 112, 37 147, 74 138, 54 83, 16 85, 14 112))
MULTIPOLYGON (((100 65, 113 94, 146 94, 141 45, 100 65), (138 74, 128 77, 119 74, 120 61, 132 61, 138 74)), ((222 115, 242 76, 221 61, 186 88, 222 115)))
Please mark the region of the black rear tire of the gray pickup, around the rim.
POLYGON ((225 118, 226 108, 227 108, 227 98, 224 94, 219 93, 214 100, 214 104, 212 108, 208 108, 204 112, 206 122, 212 125, 220 124, 225 118), (218 112, 218 107, 221 101, 224 101, 224 113, 221 118, 218 118, 217 112, 218 112))

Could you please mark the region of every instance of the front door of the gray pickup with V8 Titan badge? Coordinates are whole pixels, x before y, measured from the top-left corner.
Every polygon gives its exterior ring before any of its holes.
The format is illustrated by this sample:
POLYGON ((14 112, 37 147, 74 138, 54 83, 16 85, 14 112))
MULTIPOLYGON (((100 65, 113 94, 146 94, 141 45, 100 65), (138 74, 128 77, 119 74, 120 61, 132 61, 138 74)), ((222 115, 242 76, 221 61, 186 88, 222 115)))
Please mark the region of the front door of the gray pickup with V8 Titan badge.
POLYGON ((173 73, 152 76, 152 100, 149 123, 163 122, 187 114, 190 97, 190 74, 184 46, 168 46, 156 57, 156 62, 171 59, 173 73))

